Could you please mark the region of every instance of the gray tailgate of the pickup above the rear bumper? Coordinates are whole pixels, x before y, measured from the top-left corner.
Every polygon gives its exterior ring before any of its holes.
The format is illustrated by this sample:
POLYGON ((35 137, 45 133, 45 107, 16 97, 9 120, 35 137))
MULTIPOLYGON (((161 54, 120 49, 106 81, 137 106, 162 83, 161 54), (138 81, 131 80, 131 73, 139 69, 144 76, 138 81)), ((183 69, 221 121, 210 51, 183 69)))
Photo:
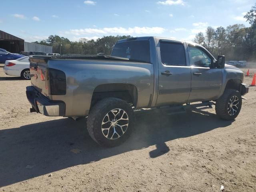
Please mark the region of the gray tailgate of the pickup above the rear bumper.
POLYGON ((48 96, 47 85, 47 61, 48 58, 33 58, 30 59, 30 75, 31 84, 36 90, 44 96, 48 96))

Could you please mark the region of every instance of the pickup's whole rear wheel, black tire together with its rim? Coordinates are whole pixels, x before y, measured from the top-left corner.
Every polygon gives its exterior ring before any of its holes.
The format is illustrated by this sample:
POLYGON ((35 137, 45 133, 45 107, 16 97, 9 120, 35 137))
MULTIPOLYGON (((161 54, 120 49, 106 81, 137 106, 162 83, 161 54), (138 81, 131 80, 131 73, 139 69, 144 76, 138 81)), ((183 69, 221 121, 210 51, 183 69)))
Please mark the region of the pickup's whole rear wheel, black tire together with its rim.
POLYGON ((87 130, 98 144, 114 147, 127 140, 133 124, 134 112, 130 104, 118 98, 105 98, 90 110, 87 130))

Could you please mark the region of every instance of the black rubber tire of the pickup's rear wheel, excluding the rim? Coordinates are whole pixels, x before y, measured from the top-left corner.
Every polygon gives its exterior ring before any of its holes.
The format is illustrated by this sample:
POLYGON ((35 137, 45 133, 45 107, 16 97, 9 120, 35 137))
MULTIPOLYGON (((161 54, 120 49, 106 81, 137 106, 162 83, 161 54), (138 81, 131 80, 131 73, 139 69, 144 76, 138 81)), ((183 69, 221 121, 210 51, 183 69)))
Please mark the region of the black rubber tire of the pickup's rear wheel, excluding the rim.
POLYGON ((134 120, 134 112, 130 104, 119 98, 104 98, 97 102, 90 110, 87 119, 87 130, 91 138, 101 146, 114 147, 128 139, 132 133, 134 120), (110 140, 102 133, 102 121, 108 112, 116 108, 122 109, 126 112, 129 124, 126 131, 120 138, 110 140))

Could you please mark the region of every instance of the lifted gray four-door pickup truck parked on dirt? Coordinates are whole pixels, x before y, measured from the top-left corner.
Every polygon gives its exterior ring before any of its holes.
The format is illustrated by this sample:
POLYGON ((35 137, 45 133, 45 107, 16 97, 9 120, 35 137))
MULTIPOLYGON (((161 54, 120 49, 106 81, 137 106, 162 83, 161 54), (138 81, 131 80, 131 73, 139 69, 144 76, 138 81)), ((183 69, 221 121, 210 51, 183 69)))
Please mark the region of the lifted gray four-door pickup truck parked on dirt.
POLYGON ((135 109, 202 102, 232 120, 248 93, 243 72, 225 65, 224 56, 216 60, 199 44, 158 37, 120 40, 111 56, 33 56, 30 74, 30 112, 88 116, 88 132, 103 146, 130 136, 135 109))

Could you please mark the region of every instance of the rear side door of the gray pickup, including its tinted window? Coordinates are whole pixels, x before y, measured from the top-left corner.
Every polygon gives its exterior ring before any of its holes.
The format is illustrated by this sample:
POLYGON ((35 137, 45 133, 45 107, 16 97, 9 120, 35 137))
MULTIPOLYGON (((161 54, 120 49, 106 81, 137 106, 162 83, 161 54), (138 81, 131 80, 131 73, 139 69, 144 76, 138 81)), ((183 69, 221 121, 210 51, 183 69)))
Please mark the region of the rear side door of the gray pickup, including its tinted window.
POLYGON ((157 42, 159 88, 156 106, 186 103, 191 69, 186 44, 175 40, 157 42))

